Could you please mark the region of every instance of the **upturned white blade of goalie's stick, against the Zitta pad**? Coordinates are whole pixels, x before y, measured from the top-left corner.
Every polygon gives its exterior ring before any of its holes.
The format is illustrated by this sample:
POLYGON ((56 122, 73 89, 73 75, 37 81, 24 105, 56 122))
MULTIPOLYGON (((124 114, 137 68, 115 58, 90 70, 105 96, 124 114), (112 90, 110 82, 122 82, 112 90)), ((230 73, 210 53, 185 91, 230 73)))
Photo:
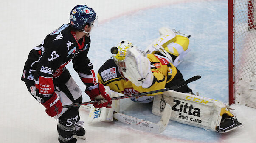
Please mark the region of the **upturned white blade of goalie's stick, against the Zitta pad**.
POLYGON ((163 115, 162 115, 162 118, 160 119, 160 121, 158 122, 158 126, 159 126, 159 132, 163 132, 168 123, 169 123, 169 120, 171 118, 171 115, 172 115, 172 108, 169 104, 166 104, 165 105, 165 108, 164 108, 164 111, 163 111, 163 115))

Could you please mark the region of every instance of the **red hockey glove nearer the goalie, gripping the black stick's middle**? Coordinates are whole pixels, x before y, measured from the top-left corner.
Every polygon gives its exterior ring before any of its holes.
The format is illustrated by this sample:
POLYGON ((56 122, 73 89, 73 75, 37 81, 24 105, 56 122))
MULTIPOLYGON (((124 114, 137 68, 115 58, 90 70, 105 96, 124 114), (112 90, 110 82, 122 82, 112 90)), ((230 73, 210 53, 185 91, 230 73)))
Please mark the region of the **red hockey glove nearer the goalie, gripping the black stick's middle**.
POLYGON ((97 100, 96 103, 93 103, 95 108, 111 108, 112 101, 102 84, 97 83, 95 86, 90 86, 85 90, 85 93, 89 95, 92 101, 97 100))

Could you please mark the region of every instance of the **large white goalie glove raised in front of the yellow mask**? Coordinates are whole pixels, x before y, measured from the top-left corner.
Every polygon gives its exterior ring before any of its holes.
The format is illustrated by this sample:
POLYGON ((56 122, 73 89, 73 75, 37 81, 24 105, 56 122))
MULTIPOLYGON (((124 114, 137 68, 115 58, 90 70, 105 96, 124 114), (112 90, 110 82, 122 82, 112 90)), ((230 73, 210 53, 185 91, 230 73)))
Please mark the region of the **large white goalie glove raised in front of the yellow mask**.
POLYGON ((153 83, 153 73, 150 68, 150 61, 144 51, 136 47, 127 50, 125 56, 126 71, 124 76, 135 86, 148 88, 153 83))

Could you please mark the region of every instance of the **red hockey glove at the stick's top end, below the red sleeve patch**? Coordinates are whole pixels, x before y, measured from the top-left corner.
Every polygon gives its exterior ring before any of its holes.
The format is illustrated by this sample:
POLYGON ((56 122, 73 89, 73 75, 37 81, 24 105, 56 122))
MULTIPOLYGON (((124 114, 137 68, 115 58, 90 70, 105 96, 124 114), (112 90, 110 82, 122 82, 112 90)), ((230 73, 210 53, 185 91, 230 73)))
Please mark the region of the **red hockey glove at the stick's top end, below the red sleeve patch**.
POLYGON ((42 105, 45 106, 45 112, 51 117, 58 115, 62 111, 62 103, 55 92, 53 93, 53 96, 45 103, 42 103, 42 105))

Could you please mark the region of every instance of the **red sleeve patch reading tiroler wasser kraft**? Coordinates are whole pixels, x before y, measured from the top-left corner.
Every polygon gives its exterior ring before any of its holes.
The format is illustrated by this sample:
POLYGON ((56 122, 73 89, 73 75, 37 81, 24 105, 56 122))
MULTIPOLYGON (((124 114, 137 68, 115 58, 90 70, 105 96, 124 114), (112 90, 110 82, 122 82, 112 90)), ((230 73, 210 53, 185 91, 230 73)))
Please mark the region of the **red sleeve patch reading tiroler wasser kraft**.
POLYGON ((48 95, 53 94, 54 84, 52 77, 39 76, 38 90, 39 94, 48 95))

